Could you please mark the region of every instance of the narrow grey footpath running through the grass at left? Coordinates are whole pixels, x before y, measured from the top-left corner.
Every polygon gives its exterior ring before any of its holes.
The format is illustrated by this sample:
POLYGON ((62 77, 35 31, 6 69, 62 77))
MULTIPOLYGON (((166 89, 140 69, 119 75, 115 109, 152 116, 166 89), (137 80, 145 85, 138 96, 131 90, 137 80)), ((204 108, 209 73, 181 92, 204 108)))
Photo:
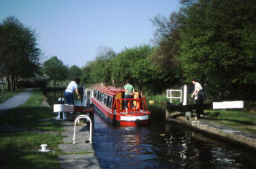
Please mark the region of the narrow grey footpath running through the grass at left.
POLYGON ((0 115, 6 113, 10 109, 14 109, 15 107, 22 105, 23 103, 26 103, 26 101, 29 100, 32 90, 33 89, 30 88, 26 89, 22 93, 19 93, 12 98, 9 98, 7 101, 4 101, 4 103, 0 103, 0 115))

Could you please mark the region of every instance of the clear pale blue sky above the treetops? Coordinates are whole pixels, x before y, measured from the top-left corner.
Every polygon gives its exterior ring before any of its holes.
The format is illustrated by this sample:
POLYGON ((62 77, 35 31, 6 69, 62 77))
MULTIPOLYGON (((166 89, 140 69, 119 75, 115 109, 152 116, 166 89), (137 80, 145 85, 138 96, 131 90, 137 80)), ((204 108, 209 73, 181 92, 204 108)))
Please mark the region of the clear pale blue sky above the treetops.
POLYGON ((34 30, 42 62, 57 56, 81 68, 100 47, 119 53, 152 44, 151 19, 179 8, 178 0, 0 0, 0 22, 15 16, 34 30))

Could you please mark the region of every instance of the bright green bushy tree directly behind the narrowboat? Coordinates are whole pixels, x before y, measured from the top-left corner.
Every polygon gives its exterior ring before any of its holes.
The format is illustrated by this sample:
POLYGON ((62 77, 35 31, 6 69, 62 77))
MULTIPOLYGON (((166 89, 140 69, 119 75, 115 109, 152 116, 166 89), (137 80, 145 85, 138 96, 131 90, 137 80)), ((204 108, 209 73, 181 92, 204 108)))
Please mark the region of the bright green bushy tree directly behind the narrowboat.
POLYGON ((158 93, 159 71, 150 59, 154 48, 149 45, 132 47, 120 52, 112 61, 112 77, 118 87, 129 81, 143 93, 158 93))

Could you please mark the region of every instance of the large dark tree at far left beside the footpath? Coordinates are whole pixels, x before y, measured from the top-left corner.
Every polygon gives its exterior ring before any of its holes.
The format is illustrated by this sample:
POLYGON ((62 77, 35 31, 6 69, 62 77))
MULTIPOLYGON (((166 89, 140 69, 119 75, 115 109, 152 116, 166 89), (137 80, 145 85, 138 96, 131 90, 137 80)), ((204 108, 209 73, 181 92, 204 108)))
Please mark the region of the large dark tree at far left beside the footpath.
POLYGON ((41 52, 34 31, 15 17, 0 24, 0 63, 10 90, 17 88, 18 79, 31 78, 39 72, 41 52))

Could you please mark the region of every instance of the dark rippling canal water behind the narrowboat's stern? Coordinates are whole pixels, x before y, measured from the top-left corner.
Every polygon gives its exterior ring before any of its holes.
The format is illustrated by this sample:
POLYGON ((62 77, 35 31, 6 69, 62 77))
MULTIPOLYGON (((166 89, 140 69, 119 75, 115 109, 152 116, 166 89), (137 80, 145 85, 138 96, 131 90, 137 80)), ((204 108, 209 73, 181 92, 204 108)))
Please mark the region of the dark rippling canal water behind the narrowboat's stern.
POLYGON ((94 115, 93 146, 101 168, 256 168, 255 151, 165 123, 164 105, 148 108, 148 127, 115 127, 94 115))

